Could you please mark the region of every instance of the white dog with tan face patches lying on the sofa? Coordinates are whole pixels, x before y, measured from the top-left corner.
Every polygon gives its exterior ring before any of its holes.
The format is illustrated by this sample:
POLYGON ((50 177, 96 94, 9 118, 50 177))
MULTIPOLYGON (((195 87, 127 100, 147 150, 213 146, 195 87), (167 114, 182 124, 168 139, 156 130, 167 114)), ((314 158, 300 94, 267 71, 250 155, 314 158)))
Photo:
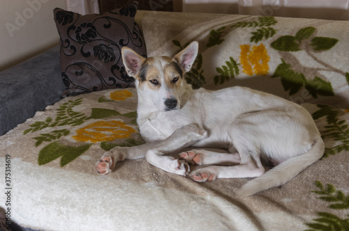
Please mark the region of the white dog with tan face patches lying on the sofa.
POLYGON ((236 191, 249 196, 285 184, 322 157, 324 143, 302 106, 249 88, 193 90, 183 75, 197 54, 198 42, 174 58, 143 58, 122 49, 128 75, 135 78, 137 122, 147 143, 106 152, 96 164, 98 173, 109 174, 117 161, 144 156, 150 164, 179 175, 188 175, 188 163, 208 164, 189 176, 198 182, 257 177, 236 191), (229 153, 195 149, 181 152, 179 159, 166 155, 189 146, 229 153), (274 168, 265 171, 262 163, 274 168))

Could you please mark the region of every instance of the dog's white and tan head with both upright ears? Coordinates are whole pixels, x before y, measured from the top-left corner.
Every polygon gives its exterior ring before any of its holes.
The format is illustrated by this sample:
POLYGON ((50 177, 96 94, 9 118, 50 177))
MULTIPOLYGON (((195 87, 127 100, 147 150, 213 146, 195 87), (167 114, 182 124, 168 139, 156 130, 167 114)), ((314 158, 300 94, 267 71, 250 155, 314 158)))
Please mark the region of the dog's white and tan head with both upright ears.
POLYGON ((143 58, 128 47, 121 53, 128 75, 136 79, 139 97, 150 100, 160 111, 180 109, 186 90, 183 76, 198 55, 198 42, 191 42, 173 58, 143 58))

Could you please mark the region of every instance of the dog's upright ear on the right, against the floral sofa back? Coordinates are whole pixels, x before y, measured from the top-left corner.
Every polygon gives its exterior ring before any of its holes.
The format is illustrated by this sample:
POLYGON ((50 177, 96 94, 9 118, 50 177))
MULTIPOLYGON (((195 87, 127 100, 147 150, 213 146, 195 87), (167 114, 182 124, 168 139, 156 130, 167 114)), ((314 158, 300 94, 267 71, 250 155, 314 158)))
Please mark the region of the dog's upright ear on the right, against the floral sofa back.
POLYGON ((181 52, 174 56, 174 61, 181 66, 181 69, 184 72, 188 72, 191 70, 191 66, 193 65, 196 56, 198 55, 199 43, 194 41, 188 45, 188 47, 184 48, 181 52))

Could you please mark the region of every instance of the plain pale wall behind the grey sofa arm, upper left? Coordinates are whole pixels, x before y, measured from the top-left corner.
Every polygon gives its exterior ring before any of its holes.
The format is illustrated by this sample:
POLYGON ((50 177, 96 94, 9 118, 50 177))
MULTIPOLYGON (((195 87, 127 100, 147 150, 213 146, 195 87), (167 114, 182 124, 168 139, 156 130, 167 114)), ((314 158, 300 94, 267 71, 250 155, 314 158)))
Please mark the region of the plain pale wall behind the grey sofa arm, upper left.
POLYGON ((1 0, 0 71, 59 43, 52 10, 66 0, 1 0))

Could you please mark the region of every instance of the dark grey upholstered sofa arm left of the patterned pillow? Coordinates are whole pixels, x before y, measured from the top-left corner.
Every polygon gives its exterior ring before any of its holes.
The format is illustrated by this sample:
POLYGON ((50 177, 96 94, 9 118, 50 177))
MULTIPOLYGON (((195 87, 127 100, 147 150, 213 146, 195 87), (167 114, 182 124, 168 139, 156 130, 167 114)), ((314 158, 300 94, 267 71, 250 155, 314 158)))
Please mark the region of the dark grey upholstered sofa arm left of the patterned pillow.
POLYGON ((0 135, 61 99, 59 46, 0 72, 0 135))

